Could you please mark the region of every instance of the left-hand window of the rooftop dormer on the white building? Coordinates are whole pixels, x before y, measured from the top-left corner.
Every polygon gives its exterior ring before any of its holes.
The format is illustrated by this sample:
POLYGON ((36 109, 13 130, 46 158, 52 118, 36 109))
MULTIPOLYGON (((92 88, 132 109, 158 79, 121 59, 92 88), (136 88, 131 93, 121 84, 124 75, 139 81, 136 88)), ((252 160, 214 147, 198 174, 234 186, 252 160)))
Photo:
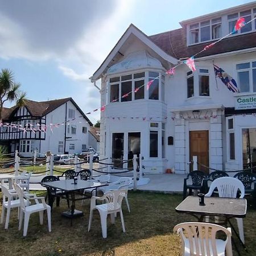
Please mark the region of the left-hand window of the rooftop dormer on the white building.
POLYGON ((221 38, 221 17, 189 25, 190 44, 221 38))

